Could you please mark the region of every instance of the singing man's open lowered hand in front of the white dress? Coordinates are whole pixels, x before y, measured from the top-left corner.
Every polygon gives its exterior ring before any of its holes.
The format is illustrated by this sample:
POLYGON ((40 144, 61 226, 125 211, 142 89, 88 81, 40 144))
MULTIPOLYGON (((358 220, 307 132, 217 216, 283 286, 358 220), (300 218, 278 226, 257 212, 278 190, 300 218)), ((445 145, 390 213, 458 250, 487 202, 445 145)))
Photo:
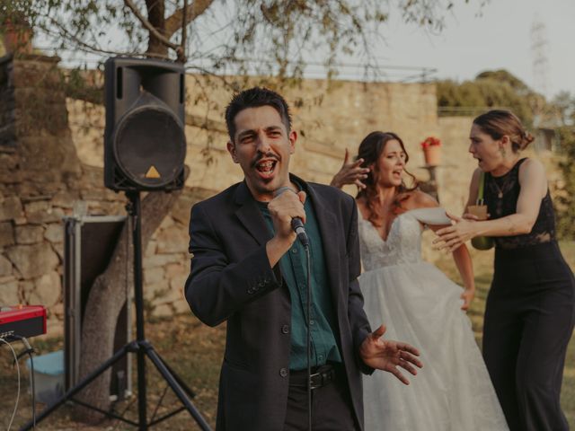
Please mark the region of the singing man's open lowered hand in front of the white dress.
POLYGON ((420 352, 407 343, 383 339, 384 334, 385 325, 381 325, 369 334, 359 347, 359 356, 367 366, 387 371, 394 374, 403 384, 410 384, 409 380, 397 369, 397 366, 399 365, 416 375, 415 366, 419 368, 423 366, 417 358, 420 356, 420 352))

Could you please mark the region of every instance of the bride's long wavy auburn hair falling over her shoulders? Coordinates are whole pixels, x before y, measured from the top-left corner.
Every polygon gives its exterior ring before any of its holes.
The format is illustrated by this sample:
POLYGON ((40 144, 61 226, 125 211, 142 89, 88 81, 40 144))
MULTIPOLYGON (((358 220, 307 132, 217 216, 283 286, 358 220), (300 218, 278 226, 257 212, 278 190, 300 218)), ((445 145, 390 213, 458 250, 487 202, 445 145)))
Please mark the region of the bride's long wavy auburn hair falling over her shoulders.
MULTIPOLYGON (((389 141, 397 141, 399 145, 402 146, 403 153, 405 153, 405 163, 410 160, 409 154, 405 150, 405 145, 403 145, 402 138, 395 135, 393 132, 371 132, 369 135, 364 137, 361 144, 359 144, 357 159, 363 159, 361 163, 362 168, 370 168, 367 172, 367 179, 363 180, 366 185, 365 189, 360 189, 356 198, 365 198, 367 203, 367 210, 369 211, 368 220, 376 225, 381 226, 381 205, 379 205, 379 199, 377 194, 377 181, 379 180, 380 172, 377 170, 377 159, 384 152, 385 145, 389 141)), ((411 177, 412 186, 411 188, 406 186, 402 180, 402 184, 397 189, 397 194, 394 200, 395 207, 401 207, 401 202, 403 199, 407 198, 406 192, 417 189, 417 180, 414 175, 407 170, 403 169, 403 172, 407 173, 411 177)))

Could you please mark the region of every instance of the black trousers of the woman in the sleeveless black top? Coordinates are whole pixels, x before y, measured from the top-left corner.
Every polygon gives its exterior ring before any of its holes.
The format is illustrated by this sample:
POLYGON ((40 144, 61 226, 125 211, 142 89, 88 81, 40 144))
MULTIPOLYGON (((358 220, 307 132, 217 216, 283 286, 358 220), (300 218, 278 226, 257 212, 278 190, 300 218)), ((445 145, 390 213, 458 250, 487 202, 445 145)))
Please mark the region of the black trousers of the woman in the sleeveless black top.
POLYGON ((575 279, 556 242, 495 251, 483 356, 511 431, 568 430, 560 405, 575 279))

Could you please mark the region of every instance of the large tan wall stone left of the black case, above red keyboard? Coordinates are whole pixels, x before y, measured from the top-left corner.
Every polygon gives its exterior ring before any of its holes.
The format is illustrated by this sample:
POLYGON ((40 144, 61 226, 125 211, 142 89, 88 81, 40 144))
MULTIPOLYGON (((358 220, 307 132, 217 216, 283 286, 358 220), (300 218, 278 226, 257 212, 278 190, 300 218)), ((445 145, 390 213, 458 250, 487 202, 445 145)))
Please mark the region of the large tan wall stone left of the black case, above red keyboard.
POLYGON ((16 245, 5 252, 13 265, 20 271, 22 278, 40 277, 55 270, 60 262, 57 253, 49 242, 32 245, 16 245))

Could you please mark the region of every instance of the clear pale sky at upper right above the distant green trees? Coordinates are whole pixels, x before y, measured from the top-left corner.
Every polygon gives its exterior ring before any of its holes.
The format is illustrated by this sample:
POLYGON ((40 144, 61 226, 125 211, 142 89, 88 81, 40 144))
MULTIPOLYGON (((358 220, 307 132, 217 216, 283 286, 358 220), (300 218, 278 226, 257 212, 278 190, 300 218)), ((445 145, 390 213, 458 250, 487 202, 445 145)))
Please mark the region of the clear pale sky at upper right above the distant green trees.
POLYGON ((547 97, 560 91, 575 94, 575 0, 491 0, 482 8, 479 0, 455 3, 439 34, 390 16, 386 43, 376 51, 378 63, 433 67, 438 78, 457 81, 503 68, 547 97), (538 55, 532 49, 534 22, 544 29, 538 55), (546 61, 538 79, 535 58, 546 61))

